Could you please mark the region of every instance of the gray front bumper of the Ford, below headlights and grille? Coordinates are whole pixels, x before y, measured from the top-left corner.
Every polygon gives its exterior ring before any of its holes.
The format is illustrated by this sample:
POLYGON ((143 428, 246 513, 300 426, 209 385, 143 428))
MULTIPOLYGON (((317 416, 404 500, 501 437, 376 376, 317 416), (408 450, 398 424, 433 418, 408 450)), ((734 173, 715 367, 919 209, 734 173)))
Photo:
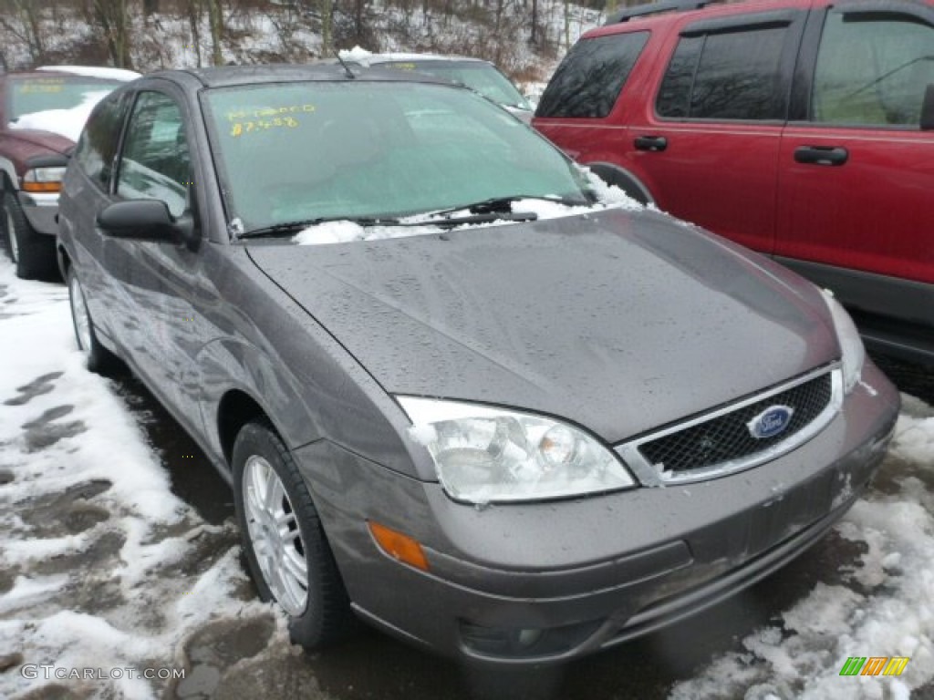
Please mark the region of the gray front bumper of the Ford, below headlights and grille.
POLYGON ((361 617, 448 655, 568 660, 704 609, 782 567, 863 492, 898 414, 870 362, 814 439, 707 482, 476 509, 320 441, 296 451, 361 617), (417 539, 429 572, 366 521, 417 539))

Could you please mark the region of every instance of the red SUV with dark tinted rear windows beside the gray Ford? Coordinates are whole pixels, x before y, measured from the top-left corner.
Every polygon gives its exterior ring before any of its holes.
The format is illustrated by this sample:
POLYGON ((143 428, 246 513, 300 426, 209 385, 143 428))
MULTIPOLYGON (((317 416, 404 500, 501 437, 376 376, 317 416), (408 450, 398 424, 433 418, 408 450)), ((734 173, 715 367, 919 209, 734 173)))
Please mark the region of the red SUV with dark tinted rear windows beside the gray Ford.
POLYGON ((934 362, 934 7, 658 3, 588 32, 532 123, 644 203, 833 290, 934 362))

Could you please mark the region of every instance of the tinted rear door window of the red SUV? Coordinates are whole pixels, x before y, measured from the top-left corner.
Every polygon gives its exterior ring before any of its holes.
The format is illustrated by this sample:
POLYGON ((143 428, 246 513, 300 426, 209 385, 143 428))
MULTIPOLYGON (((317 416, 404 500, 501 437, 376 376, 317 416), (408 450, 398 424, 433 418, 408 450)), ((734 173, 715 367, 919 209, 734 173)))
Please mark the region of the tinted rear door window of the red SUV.
POLYGON ((751 26, 682 36, 661 83, 659 117, 785 119, 785 26, 751 26))

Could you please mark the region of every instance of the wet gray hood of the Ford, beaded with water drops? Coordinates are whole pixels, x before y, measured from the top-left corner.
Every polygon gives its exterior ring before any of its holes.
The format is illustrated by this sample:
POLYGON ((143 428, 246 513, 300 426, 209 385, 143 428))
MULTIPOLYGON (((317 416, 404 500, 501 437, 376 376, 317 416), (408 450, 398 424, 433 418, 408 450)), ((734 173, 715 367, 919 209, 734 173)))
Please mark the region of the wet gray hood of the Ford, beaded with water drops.
POLYGON ((390 393, 610 442, 839 357, 815 287, 649 211, 248 252, 390 393))

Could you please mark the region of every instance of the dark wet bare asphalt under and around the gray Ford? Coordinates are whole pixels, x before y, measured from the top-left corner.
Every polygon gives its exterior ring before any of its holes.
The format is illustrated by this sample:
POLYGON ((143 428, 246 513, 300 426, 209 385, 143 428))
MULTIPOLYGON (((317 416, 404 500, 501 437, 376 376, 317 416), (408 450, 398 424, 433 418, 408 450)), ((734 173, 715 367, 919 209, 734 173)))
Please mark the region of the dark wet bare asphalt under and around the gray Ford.
MULTIPOLYGON (((934 370, 877 358, 899 388, 934 404, 934 370)), ((115 387, 126 400, 149 441, 162 453, 170 470, 173 491, 194 506, 212 524, 233 519, 233 497, 191 438, 128 373, 115 377, 115 387)), ((741 649, 740 640, 757 627, 775 623, 782 610, 807 595, 817 581, 833 583, 837 573, 855 562, 865 545, 831 532, 798 559, 742 595, 649 637, 559 669, 540 669, 521 678, 497 670, 461 668, 446 659, 406 646, 369 628, 344 645, 307 655, 293 650, 267 667, 265 680, 245 673, 237 685, 242 695, 218 694, 221 686, 191 697, 333 698, 333 700, 460 700, 474 697, 556 697, 562 700, 613 700, 665 697, 672 684, 688 679, 715 655, 741 649), (275 679, 275 680, 273 680, 275 679), (252 687, 253 690, 250 690, 252 687)), ((233 666, 250 656, 256 634, 199 640, 203 650, 219 657, 220 665, 233 666), (240 639, 239 637, 242 637, 240 639), (239 640, 238 640, 239 639, 239 640), (221 640, 222 643, 221 643, 221 640), (227 651, 217 651, 226 645, 227 651)), ((242 665, 242 664, 241 664, 242 665)), ((257 669, 254 669, 254 671, 257 669)), ((230 684, 227 684, 230 687, 230 684)), ((238 692, 239 693, 239 692, 238 692)), ((184 695, 174 695, 184 697, 184 695)), ((934 700, 934 688, 913 693, 934 700)))

